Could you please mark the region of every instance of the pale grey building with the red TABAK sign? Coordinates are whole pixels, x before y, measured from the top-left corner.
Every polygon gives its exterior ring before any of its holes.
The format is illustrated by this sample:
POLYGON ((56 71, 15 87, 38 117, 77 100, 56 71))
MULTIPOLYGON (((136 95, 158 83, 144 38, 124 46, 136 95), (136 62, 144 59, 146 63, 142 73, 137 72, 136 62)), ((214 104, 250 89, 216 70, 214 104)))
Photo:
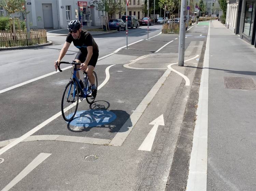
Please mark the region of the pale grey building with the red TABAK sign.
MULTIPOLYGON (((70 20, 80 20, 84 28, 99 26, 104 13, 95 9, 93 1, 27 0, 31 28, 67 28, 70 20)), ((8 15, 3 9, 0 9, 0 14, 8 15)), ((23 13, 11 16, 24 19, 23 13)))

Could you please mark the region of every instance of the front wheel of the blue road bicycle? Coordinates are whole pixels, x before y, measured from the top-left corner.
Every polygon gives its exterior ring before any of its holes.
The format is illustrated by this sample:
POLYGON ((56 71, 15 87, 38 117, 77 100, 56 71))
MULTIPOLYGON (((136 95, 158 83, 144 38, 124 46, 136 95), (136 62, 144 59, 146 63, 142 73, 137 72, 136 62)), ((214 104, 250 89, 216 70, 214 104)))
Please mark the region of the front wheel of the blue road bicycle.
POLYGON ((77 111, 79 94, 74 82, 69 82, 63 92, 61 100, 61 113, 65 121, 71 121, 77 111))

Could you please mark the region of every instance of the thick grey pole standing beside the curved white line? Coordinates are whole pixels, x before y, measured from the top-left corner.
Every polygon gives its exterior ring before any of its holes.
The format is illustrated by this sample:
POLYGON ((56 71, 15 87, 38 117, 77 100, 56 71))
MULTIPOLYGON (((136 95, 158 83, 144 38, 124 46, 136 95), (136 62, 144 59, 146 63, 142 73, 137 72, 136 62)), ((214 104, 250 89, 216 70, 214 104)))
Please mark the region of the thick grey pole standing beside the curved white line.
POLYGON ((184 66, 185 34, 186 34, 186 5, 187 1, 181 1, 180 38, 179 38, 179 66, 184 66))

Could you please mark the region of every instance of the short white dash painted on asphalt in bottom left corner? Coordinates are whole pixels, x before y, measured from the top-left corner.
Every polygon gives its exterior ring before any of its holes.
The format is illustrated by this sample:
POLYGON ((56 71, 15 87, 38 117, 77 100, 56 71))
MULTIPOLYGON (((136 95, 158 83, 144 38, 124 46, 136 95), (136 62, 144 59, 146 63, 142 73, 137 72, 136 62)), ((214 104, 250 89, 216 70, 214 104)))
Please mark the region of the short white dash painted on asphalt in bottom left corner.
POLYGON ((31 163, 29 163, 22 172, 20 172, 6 187, 1 191, 8 191, 14 187, 20 180, 27 176, 34 168, 41 164, 45 159, 47 159, 51 153, 40 153, 31 163))

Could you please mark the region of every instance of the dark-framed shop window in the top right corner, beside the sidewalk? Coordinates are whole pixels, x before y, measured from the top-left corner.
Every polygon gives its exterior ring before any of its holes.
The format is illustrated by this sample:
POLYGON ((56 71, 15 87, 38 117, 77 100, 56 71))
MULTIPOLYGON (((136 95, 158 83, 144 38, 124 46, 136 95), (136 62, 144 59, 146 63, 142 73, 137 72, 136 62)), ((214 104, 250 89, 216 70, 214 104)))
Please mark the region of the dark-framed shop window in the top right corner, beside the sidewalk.
POLYGON ((253 2, 246 2, 243 33, 249 37, 253 32, 253 2))

